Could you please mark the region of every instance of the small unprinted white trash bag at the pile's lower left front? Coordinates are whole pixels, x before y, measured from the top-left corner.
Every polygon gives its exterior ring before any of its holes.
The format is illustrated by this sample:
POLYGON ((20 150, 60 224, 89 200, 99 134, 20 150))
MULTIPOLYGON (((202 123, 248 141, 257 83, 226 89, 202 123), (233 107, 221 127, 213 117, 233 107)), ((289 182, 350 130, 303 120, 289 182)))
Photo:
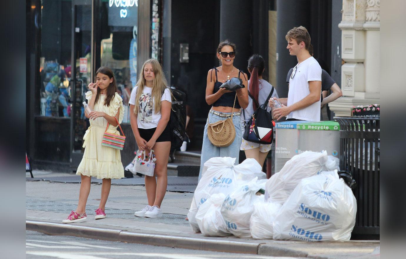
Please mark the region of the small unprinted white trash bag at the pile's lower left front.
POLYGON ((220 212, 225 197, 223 193, 215 193, 199 207, 196 221, 204 236, 221 237, 231 235, 227 231, 226 223, 220 212))

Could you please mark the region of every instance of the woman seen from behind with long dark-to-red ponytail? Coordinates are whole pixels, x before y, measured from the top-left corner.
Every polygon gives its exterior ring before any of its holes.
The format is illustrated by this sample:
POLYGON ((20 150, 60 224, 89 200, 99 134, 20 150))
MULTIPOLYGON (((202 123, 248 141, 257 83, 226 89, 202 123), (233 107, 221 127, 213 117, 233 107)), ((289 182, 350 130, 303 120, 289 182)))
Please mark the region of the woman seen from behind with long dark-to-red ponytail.
MULTIPOLYGON (((252 124, 252 115, 257 110, 258 106, 266 104, 267 111, 270 112, 271 108, 268 106, 268 99, 270 97, 278 97, 276 89, 262 79, 262 73, 265 70, 265 62, 261 55, 254 54, 248 59, 248 71, 251 74, 250 80, 248 80, 248 107, 243 110, 243 123, 252 124), (272 94, 271 91, 273 90, 272 94), (271 96, 269 96, 271 95, 271 96), (254 99, 254 100, 253 100, 254 99)), ((244 136, 244 125, 242 135, 244 136)), ((273 132, 272 132, 273 134, 273 132)), ((273 139, 273 136, 272 136, 273 139)), ((254 158, 257 162, 263 166, 268 152, 271 150, 271 144, 259 144, 242 138, 241 150, 244 150, 246 158, 254 158)))

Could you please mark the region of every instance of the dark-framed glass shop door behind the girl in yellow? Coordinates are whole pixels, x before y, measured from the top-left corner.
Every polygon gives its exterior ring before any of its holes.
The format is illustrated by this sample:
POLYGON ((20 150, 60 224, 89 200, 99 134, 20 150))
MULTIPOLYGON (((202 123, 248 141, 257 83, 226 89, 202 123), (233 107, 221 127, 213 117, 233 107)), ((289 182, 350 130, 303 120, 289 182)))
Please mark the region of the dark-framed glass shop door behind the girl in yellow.
POLYGON ((71 80, 71 167, 77 168, 83 156, 83 135, 89 127, 84 116, 87 85, 92 82, 92 2, 73 1, 72 80, 71 80))

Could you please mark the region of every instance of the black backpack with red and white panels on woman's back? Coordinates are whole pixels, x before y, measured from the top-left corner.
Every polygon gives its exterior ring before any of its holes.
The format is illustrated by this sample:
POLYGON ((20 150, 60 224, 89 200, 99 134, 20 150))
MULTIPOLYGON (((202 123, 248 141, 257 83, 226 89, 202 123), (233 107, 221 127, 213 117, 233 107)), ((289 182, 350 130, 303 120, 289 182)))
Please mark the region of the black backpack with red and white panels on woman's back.
POLYGON ((245 111, 243 110, 245 132, 242 138, 245 140, 265 145, 272 144, 274 140, 274 125, 272 122, 272 114, 266 109, 268 100, 271 98, 273 92, 274 87, 272 86, 271 93, 269 94, 268 98, 266 98, 265 104, 262 105, 259 105, 251 93, 248 92, 249 97, 255 101, 258 108, 251 115, 251 119, 248 121, 248 123, 245 122, 245 111))

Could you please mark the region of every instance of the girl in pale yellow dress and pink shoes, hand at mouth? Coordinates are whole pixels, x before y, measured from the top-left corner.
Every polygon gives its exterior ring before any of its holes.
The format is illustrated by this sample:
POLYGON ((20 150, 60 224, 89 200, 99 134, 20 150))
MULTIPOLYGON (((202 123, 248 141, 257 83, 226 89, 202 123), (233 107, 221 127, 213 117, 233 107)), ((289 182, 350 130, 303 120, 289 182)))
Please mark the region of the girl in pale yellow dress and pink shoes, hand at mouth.
POLYGON ((72 211, 63 223, 78 222, 86 219, 86 202, 90 192, 91 177, 103 179, 100 205, 96 209, 95 219, 106 218, 104 206, 110 193, 111 179, 124 177, 119 149, 102 146, 104 132, 119 134, 117 121, 121 123, 124 117, 123 99, 117 93, 116 80, 113 71, 108 67, 100 67, 96 71, 96 82, 87 86, 86 93, 89 107, 93 110, 86 118, 90 126, 84 134, 84 154, 78 166, 76 175, 80 175, 79 202, 76 211, 72 211))

